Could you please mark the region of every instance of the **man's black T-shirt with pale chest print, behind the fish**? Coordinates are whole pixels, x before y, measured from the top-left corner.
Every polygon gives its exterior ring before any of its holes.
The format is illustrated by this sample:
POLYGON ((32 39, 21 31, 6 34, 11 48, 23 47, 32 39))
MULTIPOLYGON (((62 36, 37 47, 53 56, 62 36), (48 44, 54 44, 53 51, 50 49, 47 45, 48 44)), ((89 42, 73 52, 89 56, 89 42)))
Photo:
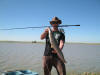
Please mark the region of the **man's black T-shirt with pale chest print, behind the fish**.
MULTIPOLYGON (((47 34, 47 36, 46 36, 46 45, 45 45, 44 56, 57 56, 57 54, 52 53, 52 51, 54 49, 51 48, 50 39, 49 39, 48 35, 49 34, 47 34)), ((54 31, 53 36, 55 37, 58 46, 60 44, 60 40, 65 41, 65 35, 64 35, 64 33, 60 32, 60 31, 54 31)))

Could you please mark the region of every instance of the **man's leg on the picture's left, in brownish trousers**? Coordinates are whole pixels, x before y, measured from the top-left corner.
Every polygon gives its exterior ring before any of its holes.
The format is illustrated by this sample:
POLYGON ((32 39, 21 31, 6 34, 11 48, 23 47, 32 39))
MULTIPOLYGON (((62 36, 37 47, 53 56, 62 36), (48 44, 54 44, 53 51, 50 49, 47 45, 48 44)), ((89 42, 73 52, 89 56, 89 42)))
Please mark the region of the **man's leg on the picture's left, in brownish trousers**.
POLYGON ((52 63, 51 56, 43 56, 44 75, 51 75, 52 63))

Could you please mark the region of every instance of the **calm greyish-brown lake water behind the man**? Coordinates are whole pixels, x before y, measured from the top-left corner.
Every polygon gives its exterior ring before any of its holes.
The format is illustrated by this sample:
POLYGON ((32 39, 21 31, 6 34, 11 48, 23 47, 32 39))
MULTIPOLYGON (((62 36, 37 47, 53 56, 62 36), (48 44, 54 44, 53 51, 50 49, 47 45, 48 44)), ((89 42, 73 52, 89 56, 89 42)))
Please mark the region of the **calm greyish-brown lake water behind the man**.
MULTIPOLYGON (((30 69, 43 75, 44 44, 0 43, 0 71, 30 69)), ((63 48, 68 72, 99 72, 100 45, 65 44, 63 48)), ((52 74, 56 75, 53 68, 52 74)))

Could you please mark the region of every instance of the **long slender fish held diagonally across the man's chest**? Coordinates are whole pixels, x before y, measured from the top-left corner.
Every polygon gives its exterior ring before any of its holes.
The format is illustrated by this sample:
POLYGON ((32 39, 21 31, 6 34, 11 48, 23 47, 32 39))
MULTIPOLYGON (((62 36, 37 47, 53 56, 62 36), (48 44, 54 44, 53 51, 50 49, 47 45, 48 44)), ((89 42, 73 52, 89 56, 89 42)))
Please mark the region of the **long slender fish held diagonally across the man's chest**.
POLYGON ((59 46, 57 45, 57 40, 55 39, 50 27, 48 27, 48 32, 49 32, 49 39, 50 39, 50 43, 51 43, 51 48, 56 50, 57 55, 60 58, 60 60, 63 63, 66 63, 66 60, 64 59, 64 55, 63 55, 62 51, 60 50, 59 46))

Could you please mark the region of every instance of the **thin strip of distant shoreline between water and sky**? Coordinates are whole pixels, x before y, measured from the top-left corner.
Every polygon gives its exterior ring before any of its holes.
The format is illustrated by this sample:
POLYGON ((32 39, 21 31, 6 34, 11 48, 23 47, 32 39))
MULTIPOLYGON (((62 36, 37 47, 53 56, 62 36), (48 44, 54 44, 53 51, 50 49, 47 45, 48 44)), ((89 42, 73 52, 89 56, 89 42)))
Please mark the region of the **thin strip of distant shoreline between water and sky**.
MULTIPOLYGON (((39 43, 45 44, 42 41, 9 41, 9 40, 0 40, 0 43, 39 43)), ((84 42, 65 42, 66 44, 90 44, 90 45, 100 45, 100 43, 84 43, 84 42)))

